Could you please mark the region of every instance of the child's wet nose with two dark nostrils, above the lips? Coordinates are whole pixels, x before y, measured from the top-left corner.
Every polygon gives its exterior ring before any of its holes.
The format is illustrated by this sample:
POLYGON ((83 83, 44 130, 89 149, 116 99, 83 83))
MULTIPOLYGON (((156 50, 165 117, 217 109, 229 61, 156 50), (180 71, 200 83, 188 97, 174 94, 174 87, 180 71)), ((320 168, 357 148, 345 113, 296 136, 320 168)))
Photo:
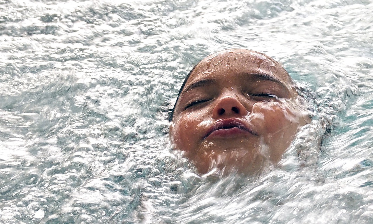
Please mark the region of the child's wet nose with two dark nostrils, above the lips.
POLYGON ((221 117, 241 117, 247 114, 247 109, 241 103, 238 96, 233 93, 218 98, 213 108, 213 119, 219 119, 221 117))

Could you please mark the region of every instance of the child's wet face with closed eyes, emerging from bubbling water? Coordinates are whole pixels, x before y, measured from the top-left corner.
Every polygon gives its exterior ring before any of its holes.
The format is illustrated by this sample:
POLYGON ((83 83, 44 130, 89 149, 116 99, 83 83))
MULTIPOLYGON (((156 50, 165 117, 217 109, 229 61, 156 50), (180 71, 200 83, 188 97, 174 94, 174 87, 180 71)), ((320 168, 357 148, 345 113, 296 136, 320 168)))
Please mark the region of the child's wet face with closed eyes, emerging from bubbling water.
POLYGON ((276 163, 304 125, 282 66, 258 52, 230 49, 203 59, 174 108, 171 141, 201 173, 244 173, 276 163))

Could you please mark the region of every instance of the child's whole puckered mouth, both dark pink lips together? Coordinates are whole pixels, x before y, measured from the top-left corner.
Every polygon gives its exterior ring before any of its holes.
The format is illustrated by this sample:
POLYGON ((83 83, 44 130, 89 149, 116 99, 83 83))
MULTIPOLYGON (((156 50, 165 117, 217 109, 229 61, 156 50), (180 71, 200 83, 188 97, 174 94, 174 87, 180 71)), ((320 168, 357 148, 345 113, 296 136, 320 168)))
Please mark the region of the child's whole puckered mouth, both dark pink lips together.
POLYGON ((239 119, 220 119, 207 131, 204 139, 207 137, 232 138, 238 135, 248 134, 256 135, 256 132, 250 128, 247 122, 243 122, 239 119))

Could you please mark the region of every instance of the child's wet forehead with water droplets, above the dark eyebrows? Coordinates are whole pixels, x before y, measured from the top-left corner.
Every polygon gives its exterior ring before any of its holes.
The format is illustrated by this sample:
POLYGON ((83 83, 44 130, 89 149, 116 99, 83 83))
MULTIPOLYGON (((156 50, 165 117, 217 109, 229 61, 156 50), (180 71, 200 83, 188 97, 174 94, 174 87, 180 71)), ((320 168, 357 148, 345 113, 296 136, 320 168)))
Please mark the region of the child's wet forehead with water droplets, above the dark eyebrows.
POLYGON ((188 83, 215 75, 241 73, 267 74, 285 85, 292 84, 291 77, 278 62, 262 53, 245 49, 223 50, 208 56, 198 63, 188 83))

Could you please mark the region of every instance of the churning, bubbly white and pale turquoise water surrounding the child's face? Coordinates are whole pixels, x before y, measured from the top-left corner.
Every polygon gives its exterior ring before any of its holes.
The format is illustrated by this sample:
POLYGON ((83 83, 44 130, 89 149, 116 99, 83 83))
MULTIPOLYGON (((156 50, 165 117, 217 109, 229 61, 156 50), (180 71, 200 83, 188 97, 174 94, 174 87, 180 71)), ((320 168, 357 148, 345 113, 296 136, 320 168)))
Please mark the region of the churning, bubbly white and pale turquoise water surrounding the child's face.
POLYGON ((372 12, 0 0, 0 223, 373 223, 372 12), (167 111, 200 59, 235 47, 281 62, 314 119, 261 176, 201 177, 167 111))

